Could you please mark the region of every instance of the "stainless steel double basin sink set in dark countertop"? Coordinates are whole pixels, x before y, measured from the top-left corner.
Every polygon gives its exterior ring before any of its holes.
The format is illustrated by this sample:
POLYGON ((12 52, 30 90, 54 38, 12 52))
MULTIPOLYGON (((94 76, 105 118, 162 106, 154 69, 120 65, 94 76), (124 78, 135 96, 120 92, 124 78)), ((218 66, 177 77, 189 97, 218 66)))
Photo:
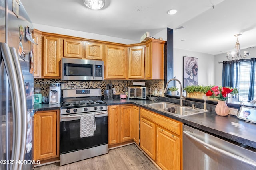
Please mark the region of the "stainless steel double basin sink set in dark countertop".
POLYGON ((180 106, 177 104, 172 104, 169 102, 160 102, 160 103, 152 103, 152 104, 145 104, 145 106, 151 107, 153 109, 162 111, 164 113, 168 113, 170 115, 176 116, 188 116, 194 115, 198 113, 204 113, 204 109, 192 108, 188 106, 180 106))

